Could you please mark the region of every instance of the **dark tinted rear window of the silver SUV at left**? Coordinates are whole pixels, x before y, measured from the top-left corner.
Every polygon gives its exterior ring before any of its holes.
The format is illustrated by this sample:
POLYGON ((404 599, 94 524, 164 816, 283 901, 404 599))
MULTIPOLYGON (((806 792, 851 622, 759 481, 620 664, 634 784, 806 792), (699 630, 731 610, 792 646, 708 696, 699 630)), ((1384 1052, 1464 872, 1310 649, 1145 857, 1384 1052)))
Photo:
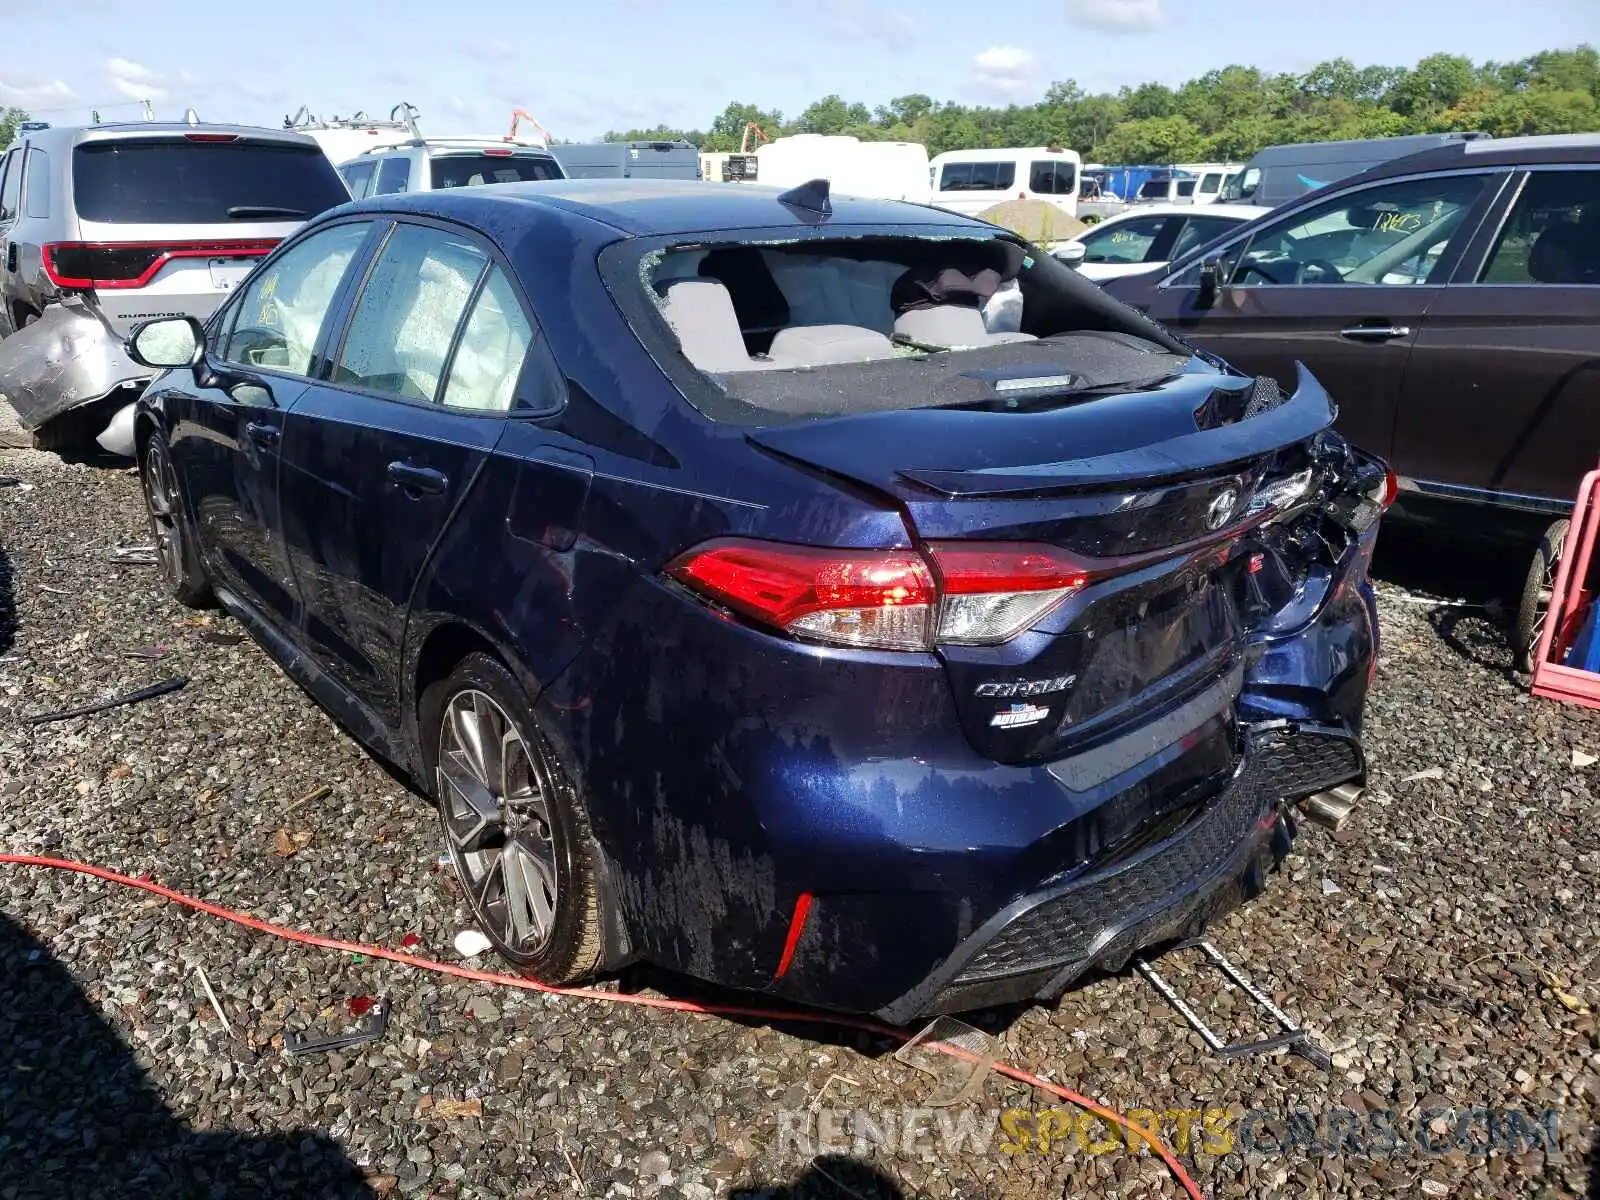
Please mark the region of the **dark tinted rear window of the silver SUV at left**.
POLYGON ((107 139, 72 152, 78 218, 141 226, 301 221, 350 197, 315 146, 107 139))

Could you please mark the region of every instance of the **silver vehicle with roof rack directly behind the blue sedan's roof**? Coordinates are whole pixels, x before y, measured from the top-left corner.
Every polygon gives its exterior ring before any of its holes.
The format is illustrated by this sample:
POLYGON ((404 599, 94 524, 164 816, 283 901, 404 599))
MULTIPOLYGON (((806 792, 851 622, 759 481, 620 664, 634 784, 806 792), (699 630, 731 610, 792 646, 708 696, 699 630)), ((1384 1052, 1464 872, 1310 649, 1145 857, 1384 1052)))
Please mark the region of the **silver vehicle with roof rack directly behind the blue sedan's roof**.
POLYGON ((339 174, 357 200, 566 178, 555 155, 542 146, 504 138, 414 138, 341 163, 339 174))

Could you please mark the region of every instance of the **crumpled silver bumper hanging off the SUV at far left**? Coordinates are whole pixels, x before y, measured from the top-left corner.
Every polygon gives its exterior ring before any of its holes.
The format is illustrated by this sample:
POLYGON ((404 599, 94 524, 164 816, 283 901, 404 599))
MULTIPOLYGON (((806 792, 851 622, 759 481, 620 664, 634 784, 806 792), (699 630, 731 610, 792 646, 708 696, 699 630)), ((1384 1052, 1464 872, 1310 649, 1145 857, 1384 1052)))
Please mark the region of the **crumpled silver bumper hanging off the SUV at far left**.
POLYGON ((24 429, 154 378, 149 366, 128 357, 106 318, 75 296, 0 341, 0 398, 16 410, 24 429))

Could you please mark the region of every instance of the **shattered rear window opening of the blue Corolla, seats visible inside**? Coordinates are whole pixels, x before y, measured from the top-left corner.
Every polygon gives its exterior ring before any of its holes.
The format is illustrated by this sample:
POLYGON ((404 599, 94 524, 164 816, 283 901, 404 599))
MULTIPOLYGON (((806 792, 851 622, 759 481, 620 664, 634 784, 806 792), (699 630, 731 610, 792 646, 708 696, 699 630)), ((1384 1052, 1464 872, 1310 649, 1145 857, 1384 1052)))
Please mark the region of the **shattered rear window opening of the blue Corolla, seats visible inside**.
POLYGON ((1008 374, 1061 394, 1187 362, 1070 269, 970 230, 672 245, 608 283, 637 296, 618 296, 635 333, 669 374, 686 360, 701 386, 685 394, 717 416, 730 406, 702 403, 709 389, 771 421, 986 403, 1008 374))

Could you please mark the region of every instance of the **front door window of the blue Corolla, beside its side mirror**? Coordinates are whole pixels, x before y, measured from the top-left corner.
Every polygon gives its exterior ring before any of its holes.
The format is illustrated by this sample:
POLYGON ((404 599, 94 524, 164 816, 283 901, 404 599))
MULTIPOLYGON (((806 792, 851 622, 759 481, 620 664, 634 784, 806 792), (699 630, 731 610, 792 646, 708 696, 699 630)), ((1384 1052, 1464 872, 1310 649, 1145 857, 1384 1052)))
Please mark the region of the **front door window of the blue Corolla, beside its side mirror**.
POLYGON ((250 277, 224 320, 224 362, 307 374, 333 298, 371 229, 350 221, 290 246, 250 277))

